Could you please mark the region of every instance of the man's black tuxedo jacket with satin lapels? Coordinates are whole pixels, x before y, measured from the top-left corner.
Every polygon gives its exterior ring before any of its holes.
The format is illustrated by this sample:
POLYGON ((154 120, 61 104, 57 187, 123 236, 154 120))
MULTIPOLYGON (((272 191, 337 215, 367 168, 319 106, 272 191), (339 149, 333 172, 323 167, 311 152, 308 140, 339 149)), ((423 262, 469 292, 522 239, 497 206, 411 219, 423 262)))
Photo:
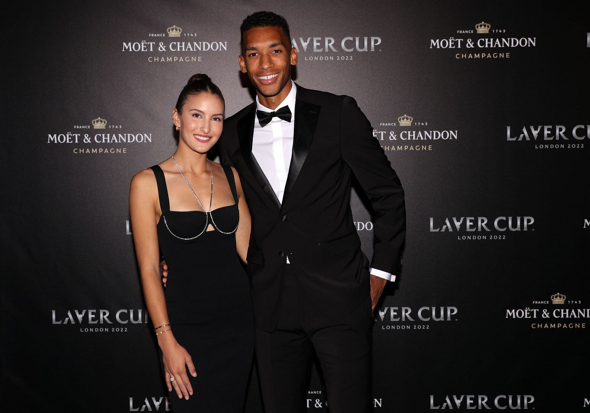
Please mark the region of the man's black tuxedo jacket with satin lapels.
POLYGON ((404 190, 373 128, 349 96, 297 85, 293 155, 278 201, 252 155, 256 104, 224 122, 222 162, 240 174, 252 231, 248 277, 258 328, 276 326, 286 257, 326 317, 348 316, 369 296, 369 260, 350 211, 356 176, 373 209, 371 267, 396 273, 405 236, 404 190))

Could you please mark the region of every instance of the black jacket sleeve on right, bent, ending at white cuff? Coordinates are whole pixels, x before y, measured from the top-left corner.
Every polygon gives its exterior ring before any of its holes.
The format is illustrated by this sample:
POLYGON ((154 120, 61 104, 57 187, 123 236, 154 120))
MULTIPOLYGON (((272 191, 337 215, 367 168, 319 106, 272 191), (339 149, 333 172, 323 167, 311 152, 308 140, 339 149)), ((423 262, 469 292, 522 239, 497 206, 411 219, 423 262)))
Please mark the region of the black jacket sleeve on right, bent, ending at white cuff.
POLYGON ((373 209, 371 267, 397 274, 405 238, 404 189, 383 148, 373 137, 371 123, 352 97, 340 112, 342 158, 350 166, 373 209))

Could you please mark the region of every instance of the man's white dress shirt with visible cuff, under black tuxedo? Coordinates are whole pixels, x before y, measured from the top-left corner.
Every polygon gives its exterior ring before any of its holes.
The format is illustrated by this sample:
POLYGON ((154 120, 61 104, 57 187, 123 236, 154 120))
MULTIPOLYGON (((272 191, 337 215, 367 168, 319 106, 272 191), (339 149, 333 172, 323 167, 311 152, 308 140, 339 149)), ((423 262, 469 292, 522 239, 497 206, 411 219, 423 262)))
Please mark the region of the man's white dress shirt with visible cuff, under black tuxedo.
MULTIPOLYGON (((271 122, 266 126, 260 126, 258 117, 254 118, 254 136, 252 140, 252 155, 256 158, 258 165, 266 175, 270 186, 277 195, 278 201, 283 203, 285 185, 287 183, 287 174, 289 165, 291 165, 291 155, 293 153, 293 135, 295 130, 295 96, 297 86, 291 81, 291 91, 276 109, 268 109, 258 100, 256 96, 256 110, 264 112, 276 112, 284 106, 289 106, 291 110, 291 122, 273 117, 271 122)), ((287 257, 289 264, 289 257, 287 257)), ((386 280, 395 281, 393 274, 385 271, 369 268, 369 272, 374 276, 385 278, 386 280)))

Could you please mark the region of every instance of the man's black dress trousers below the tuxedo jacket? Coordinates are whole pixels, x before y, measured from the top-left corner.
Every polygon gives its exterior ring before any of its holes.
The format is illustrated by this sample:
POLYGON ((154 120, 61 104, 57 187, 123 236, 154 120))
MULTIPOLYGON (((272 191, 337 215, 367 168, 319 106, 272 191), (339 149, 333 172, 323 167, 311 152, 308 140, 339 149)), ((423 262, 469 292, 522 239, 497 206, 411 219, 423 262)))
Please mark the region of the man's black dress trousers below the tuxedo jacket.
POLYGON ((273 332, 256 329, 256 358, 266 413, 306 411, 313 350, 322 366, 330 413, 371 408, 371 296, 333 321, 316 309, 287 264, 283 300, 273 332))

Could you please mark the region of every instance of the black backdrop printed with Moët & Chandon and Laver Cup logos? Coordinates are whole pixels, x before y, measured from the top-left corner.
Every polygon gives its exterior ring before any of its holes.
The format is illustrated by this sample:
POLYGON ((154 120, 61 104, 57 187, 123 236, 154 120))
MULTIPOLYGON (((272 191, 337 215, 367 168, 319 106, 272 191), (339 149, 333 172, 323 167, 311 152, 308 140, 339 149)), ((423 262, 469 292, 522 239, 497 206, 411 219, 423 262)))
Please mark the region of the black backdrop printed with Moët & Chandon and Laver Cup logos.
MULTIPOLYGON (((264 9, 290 22, 296 82, 355 97, 405 188, 373 410, 590 411, 588 5, 409 0, 15 9, 2 411, 171 411, 129 182, 175 150, 172 109, 192 74, 212 77, 228 115, 252 101, 239 27, 264 9)), ((351 204, 371 257, 371 212, 362 194, 351 204)), ((317 368, 304 402, 329 411, 317 368)), ((255 368, 245 411, 262 411, 255 368)))

